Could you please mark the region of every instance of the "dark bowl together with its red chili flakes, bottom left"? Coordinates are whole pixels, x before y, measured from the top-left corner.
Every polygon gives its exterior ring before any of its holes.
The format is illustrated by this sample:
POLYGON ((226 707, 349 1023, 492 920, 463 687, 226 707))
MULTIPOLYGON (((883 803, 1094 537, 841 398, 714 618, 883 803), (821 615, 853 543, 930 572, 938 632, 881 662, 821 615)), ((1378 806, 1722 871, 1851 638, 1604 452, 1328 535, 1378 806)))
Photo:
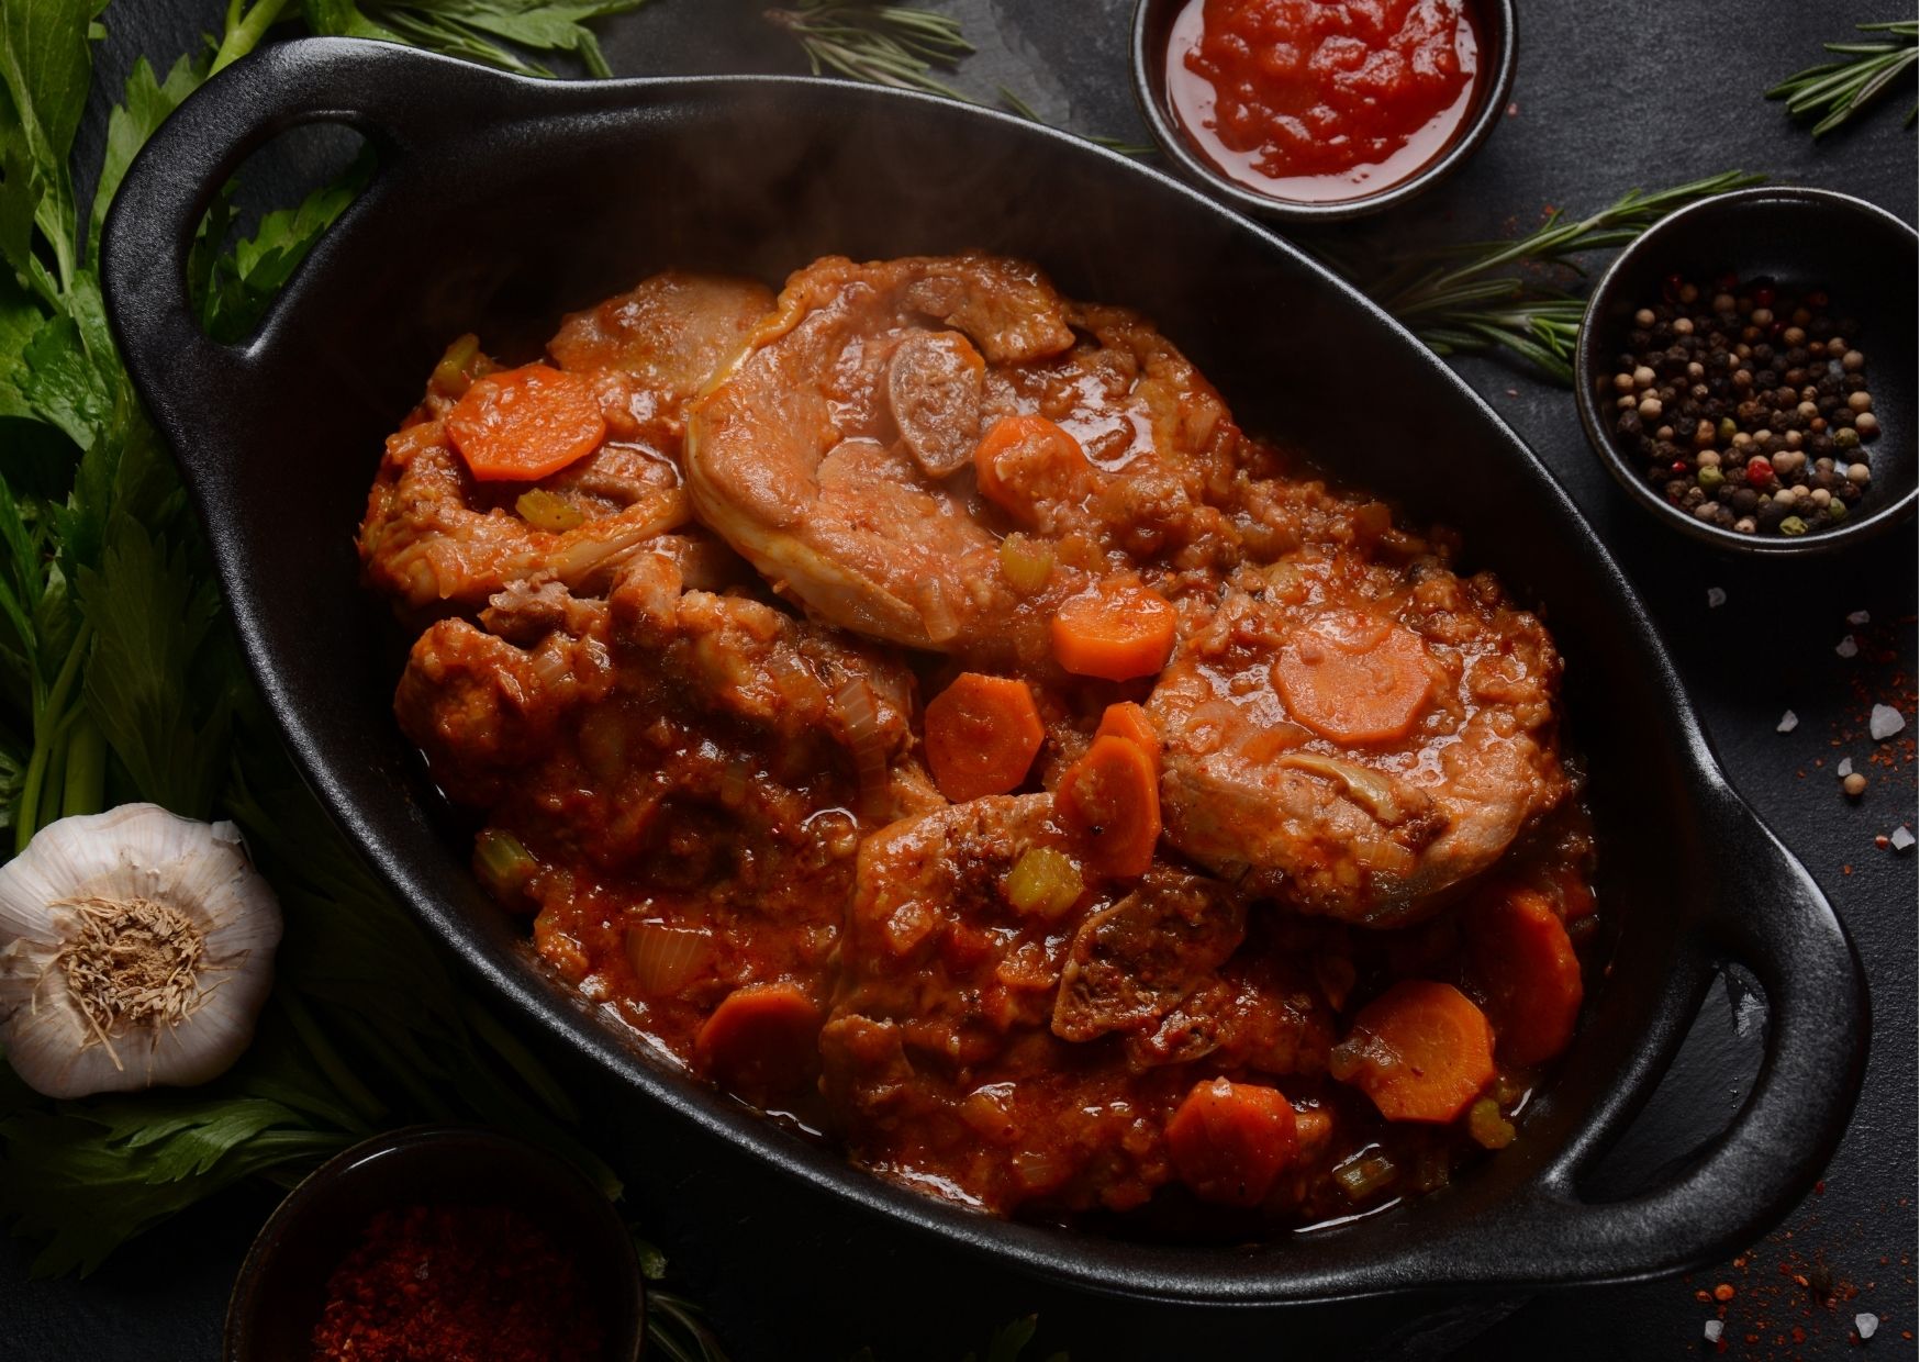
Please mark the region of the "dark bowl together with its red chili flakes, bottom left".
POLYGON ((559 1156, 468 1128, 355 1145, 253 1241, 227 1362, 634 1362, 643 1289, 612 1203, 559 1156))

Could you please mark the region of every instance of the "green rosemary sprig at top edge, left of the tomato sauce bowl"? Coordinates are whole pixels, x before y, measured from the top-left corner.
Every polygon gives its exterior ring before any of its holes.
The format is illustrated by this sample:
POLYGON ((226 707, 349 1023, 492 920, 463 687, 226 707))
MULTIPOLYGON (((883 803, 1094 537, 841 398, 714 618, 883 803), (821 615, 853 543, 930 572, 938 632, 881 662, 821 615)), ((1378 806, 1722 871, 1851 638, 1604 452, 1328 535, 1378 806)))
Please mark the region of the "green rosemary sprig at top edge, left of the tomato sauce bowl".
POLYGON ((831 71, 973 104, 931 75, 935 69, 950 71, 973 52, 952 15, 874 0, 801 0, 791 10, 768 10, 766 21, 801 44, 814 75, 831 71))

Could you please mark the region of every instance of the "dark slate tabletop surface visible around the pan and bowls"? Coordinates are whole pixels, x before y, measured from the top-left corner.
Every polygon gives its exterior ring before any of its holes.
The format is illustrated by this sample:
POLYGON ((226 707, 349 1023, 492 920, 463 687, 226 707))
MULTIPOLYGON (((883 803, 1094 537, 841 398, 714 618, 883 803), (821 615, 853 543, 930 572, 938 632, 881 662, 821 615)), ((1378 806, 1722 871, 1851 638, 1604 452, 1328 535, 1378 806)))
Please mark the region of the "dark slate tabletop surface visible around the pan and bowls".
MULTIPOLYGON (((1897 4, 1849 8, 1860 19, 1903 17, 1897 4)), ((624 75, 793 69, 758 10, 747 0, 657 0, 607 25, 607 50, 624 75)), ((983 96, 1006 85, 1075 131, 1144 140, 1127 79, 1127 0, 952 0, 950 10, 979 46, 956 85, 983 96)), ((117 83, 134 54, 171 61, 217 17, 211 0, 121 0, 106 15, 102 69, 117 83)), ((1632 184, 1732 167, 1859 194, 1912 221, 1914 136, 1899 127, 1899 109, 1814 146, 1759 98, 1816 60, 1841 23, 1826 6, 1788 0, 1524 6, 1511 117, 1450 184, 1388 221, 1338 232, 1361 244, 1490 236, 1530 227, 1548 206, 1586 211, 1632 184)), ((1908 81, 1895 102, 1910 100, 1908 81)), ((96 108, 96 138, 100 117, 96 108)), ((1884 302, 1907 315, 1916 304, 1884 302)), ((1914 530, 1837 561, 1720 557, 1626 501, 1588 451, 1565 392, 1492 361, 1461 369, 1615 544, 1734 784, 1845 918, 1872 982, 1874 1053, 1822 1191, 1741 1258, 1684 1281, 1442 1308, 1438 1326, 1411 1333, 1388 1331, 1396 1322, 1379 1312, 1350 1327, 1354 1350, 1684 1356, 1711 1350, 1701 1326, 1722 1312, 1734 1356, 1839 1358, 1857 1347, 1853 1316, 1868 1310, 1884 1320, 1868 1350, 1912 1356, 1916 861, 1878 849, 1874 834, 1914 822, 1914 530), (1726 592, 1720 609, 1707 605, 1713 586, 1726 592), (1849 624, 1855 611, 1872 622, 1849 624), (1860 653, 1841 659, 1834 647, 1849 632, 1860 653), (1907 742, 1868 740, 1874 701, 1903 709, 1907 742), (1780 734, 1788 709, 1799 726, 1780 734), (1859 803, 1837 791, 1832 768, 1841 757, 1872 778, 1859 803), (1859 1295, 1828 1310, 1795 1276, 1859 1295), (1736 1291, 1724 1310, 1695 1299, 1718 1283, 1736 1291)), ((1711 1139, 1738 1110, 1757 1062, 1757 1007, 1732 980, 1709 999, 1672 1078, 1617 1151, 1609 1185, 1657 1178, 1676 1155, 1711 1139)), ((1029 1356, 1071 1349, 1079 1362, 1284 1354, 1304 1337, 1306 1322, 1071 1297, 981 1264, 856 1241, 831 1224, 795 1226, 768 1204, 780 1189, 756 1183, 751 1168, 660 1147, 643 1114, 622 1110, 616 1093, 597 1093, 591 1074, 568 1078, 599 1099, 584 1105, 605 1112, 607 1147, 624 1155, 636 1212, 668 1249, 678 1285, 712 1306, 737 1358, 845 1356, 864 1343, 881 1358, 950 1358, 983 1347, 996 1322, 1031 1310, 1041 1312, 1041 1337, 1029 1356)), ((148 1235, 84 1283, 29 1283, 21 1251, 0 1247, 0 1358, 215 1356, 228 1283, 271 1203, 263 1187, 232 1193, 148 1235)))

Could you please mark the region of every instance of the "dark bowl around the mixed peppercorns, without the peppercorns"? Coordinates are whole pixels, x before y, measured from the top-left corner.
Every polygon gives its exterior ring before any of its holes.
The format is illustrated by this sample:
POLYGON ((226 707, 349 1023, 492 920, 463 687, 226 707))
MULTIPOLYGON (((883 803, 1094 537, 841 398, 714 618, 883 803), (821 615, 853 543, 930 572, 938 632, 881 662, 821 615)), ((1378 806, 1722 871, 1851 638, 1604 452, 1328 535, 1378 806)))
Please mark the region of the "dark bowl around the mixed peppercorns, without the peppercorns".
POLYGON ((1594 288, 1574 352, 1580 425, 1628 496, 1668 526, 1736 553, 1834 553, 1870 540, 1914 513, 1914 229, 1847 194, 1824 188, 1745 188, 1716 194, 1663 219, 1620 252, 1594 288), (1711 286, 1720 275, 1824 288, 1836 315, 1860 323, 1880 436, 1864 446, 1874 480, 1832 530, 1789 538, 1740 534, 1697 521, 1667 501, 1645 463, 1615 434, 1613 394, 1599 382, 1628 350, 1632 315, 1657 304, 1672 275, 1711 286))

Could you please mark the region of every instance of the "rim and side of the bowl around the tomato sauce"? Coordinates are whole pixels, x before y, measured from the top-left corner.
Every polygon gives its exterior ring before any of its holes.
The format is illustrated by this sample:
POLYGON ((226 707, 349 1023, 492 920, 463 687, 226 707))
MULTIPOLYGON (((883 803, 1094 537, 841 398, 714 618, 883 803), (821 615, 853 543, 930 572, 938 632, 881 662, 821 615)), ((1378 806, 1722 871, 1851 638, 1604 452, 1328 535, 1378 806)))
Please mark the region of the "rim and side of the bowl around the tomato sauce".
POLYGON ((1273 223, 1336 223, 1379 213, 1425 194, 1459 169, 1500 123, 1513 90, 1513 69, 1521 60, 1519 13, 1515 0, 1467 0, 1480 36, 1480 75, 1475 106, 1465 125, 1440 156, 1419 173, 1394 181, 1371 194, 1327 202, 1288 200, 1260 194, 1233 179, 1202 156, 1181 131, 1167 96, 1167 40, 1181 10, 1198 0, 1139 0, 1133 8, 1133 94, 1140 102, 1146 127, 1160 150, 1200 188, 1227 200, 1240 211, 1273 223))

